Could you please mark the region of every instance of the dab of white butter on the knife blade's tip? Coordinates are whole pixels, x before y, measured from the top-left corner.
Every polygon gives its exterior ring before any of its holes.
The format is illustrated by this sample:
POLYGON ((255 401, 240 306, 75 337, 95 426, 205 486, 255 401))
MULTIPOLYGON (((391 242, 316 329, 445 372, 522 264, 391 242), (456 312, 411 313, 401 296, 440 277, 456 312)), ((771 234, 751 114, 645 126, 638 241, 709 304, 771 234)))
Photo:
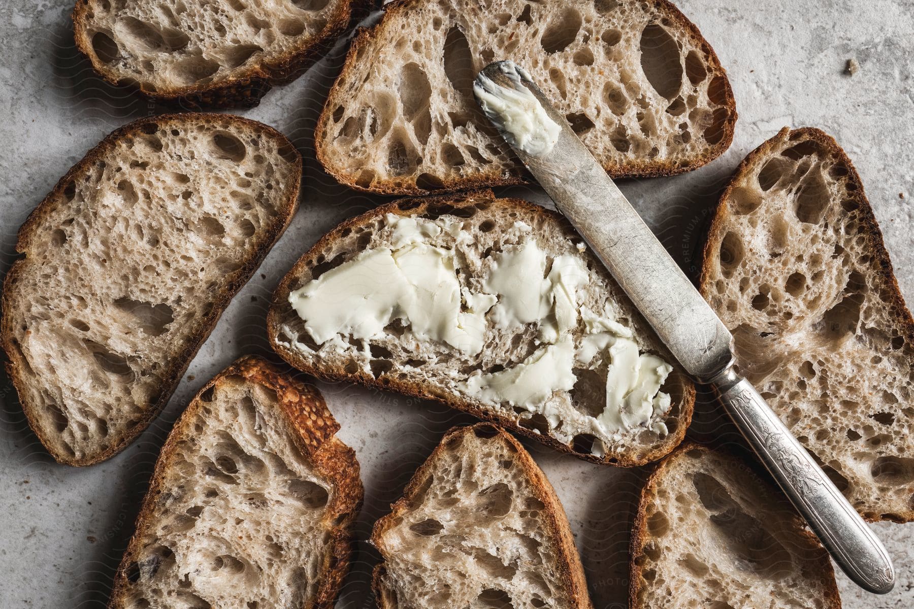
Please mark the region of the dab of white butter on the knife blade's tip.
POLYGON ((473 92, 485 116, 516 149, 532 156, 548 154, 558 142, 561 127, 548 117, 539 100, 521 82, 521 77, 532 80, 524 68, 512 61, 499 65, 515 87, 502 87, 480 73, 473 82, 473 92))

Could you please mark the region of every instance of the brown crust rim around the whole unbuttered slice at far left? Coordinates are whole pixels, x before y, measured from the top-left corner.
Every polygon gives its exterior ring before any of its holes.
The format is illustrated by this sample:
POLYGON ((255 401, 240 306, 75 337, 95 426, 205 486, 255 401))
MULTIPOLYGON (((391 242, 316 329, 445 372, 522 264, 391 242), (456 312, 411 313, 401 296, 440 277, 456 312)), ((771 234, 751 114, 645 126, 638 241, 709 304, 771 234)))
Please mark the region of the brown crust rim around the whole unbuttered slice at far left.
POLYGON ((20 258, 16 260, 13 266, 9 269, 9 272, 6 274, 4 281, 4 288, 2 297, 0 297, 0 303, 2 303, 2 319, 0 319, 0 347, 6 352, 6 357, 8 362, 6 362, 6 373, 9 374, 10 379, 13 381, 16 391, 19 394, 19 398, 22 401, 22 408, 28 419, 28 425, 31 426, 32 430, 35 432, 35 435, 41 441, 41 444, 48 449, 48 452, 52 457, 58 460, 59 463, 63 463, 71 466, 88 466, 95 463, 99 463, 113 457, 120 451, 122 451, 126 446, 130 445, 131 442, 139 436, 140 433, 145 429, 155 418, 156 415, 165 408, 165 404, 168 403, 168 399, 171 397, 171 394, 174 393, 177 383, 180 382, 181 377, 184 376, 187 366, 190 364, 191 360, 194 359, 194 356, 197 354, 200 346, 206 341, 209 333, 213 331, 213 328, 216 327, 216 323, 219 320, 219 317, 222 314, 222 311, 225 310, 228 306, 228 302, 238 293, 254 274, 254 271, 260 267, 260 262, 263 258, 270 252, 273 244, 276 243, 277 239, 282 236, 282 233, 285 231, 286 226, 289 226, 289 223, 292 221, 292 215, 295 214, 295 209, 298 206, 298 193, 299 188, 301 187, 302 182, 302 157, 295 150, 295 147, 292 146, 292 142, 282 135, 279 131, 276 131, 268 125, 264 125, 257 121, 250 121, 249 119, 244 119, 239 116, 232 114, 198 114, 193 112, 188 112, 184 114, 163 114, 156 117, 140 119, 139 121, 133 121, 127 125, 124 125, 116 131, 112 131, 105 139, 99 142, 94 148, 86 153, 86 156, 80 160, 79 163, 73 165, 69 172, 67 172, 58 183, 51 190, 50 194, 44 198, 44 200, 28 215, 26 222, 19 228, 18 236, 16 239, 16 252, 24 253, 26 252, 29 244, 29 238, 32 236, 33 232, 42 222, 45 221, 47 216, 51 213, 52 207, 55 203, 55 200, 63 193, 64 188, 69 184, 71 179, 80 175, 81 173, 86 172, 90 167, 100 160, 117 142, 118 140, 133 135, 138 131, 143 129, 144 125, 154 123, 156 125, 161 125, 167 121, 184 121, 186 123, 209 123, 209 124, 219 124, 226 121, 236 123, 240 126, 246 127, 248 129, 253 129, 256 131, 261 131, 266 133, 269 137, 280 142, 280 146, 285 151, 288 151, 290 155, 294 157, 294 166, 296 171, 292 175, 292 184, 288 185, 289 196, 285 201, 284 205, 280 210, 280 213, 283 217, 282 222, 278 223, 269 233, 264 236, 263 247, 260 247, 260 250, 254 252, 253 256, 248 260, 248 262, 235 271, 236 277, 228 285, 228 289, 222 294, 221 298, 216 300, 213 309, 207 313, 207 316, 204 318, 205 322, 201 325, 200 331, 197 332, 196 336, 191 337, 191 340, 187 342, 187 345, 183 352, 179 353, 176 357, 172 358, 170 362, 170 370, 165 369, 165 380, 163 382, 162 390, 159 393, 158 398, 154 404, 150 404, 149 408, 146 410, 146 415, 143 421, 140 424, 134 425, 133 428, 127 433, 126 436, 123 436, 120 442, 113 444, 106 450, 102 451, 97 455, 92 455, 89 457, 82 458, 71 458, 67 455, 58 453, 54 448, 48 443, 48 437, 45 435, 44 431, 41 429, 40 425, 37 425, 37 421, 33 417, 33 411, 37 409, 36 404, 28 404, 26 393, 23 389, 26 386, 27 381, 23 379, 20 369, 25 364, 21 352, 16 348, 16 341, 14 339, 13 332, 13 321, 10 319, 10 316, 7 314, 9 311, 8 305, 8 294, 10 290, 16 289, 16 280, 19 273, 21 272, 22 267, 29 262, 26 258, 20 258))

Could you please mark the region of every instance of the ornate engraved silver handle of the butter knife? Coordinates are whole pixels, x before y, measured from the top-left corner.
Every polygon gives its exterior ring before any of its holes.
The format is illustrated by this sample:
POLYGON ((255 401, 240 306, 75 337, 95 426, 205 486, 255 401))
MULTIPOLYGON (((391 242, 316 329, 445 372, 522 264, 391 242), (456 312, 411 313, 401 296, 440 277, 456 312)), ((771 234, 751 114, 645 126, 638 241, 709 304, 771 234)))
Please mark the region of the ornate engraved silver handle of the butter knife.
POLYGON ((886 549, 752 383, 730 367, 711 384, 739 432, 834 562, 865 590, 889 592, 895 570, 886 549))

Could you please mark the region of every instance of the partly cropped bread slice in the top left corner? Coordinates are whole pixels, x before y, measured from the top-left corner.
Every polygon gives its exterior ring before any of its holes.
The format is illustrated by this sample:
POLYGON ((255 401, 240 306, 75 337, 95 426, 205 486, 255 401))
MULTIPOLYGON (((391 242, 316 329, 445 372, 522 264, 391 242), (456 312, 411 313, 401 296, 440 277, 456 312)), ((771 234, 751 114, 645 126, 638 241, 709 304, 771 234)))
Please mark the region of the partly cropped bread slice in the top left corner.
POLYGON ((183 105, 256 106, 367 0, 77 0, 76 46, 112 84, 183 105))

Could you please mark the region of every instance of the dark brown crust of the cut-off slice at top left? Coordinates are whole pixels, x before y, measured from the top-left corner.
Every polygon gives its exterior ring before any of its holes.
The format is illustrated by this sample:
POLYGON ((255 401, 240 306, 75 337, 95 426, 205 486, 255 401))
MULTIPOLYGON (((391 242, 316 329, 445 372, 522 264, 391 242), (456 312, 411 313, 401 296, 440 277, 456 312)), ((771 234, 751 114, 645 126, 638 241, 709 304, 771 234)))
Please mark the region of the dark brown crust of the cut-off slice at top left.
MULTIPOLYGON (((166 104, 178 104, 192 109, 218 108, 253 108, 260 103, 267 91, 274 85, 291 82, 310 68, 314 61, 321 58, 324 52, 333 46, 339 35, 350 23, 367 15, 368 8, 374 0, 349 0, 341 5, 342 10, 327 21, 316 36, 303 42, 292 53, 275 58, 270 63, 256 63, 243 69, 236 68, 236 74, 229 79, 217 80, 204 85, 188 85, 151 91, 142 85, 129 83, 133 89, 146 97, 166 104)), ((92 68, 112 85, 128 84, 124 79, 114 76, 111 69, 97 60, 92 52, 92 41, 86 33, 88 0, 77 0, 73 8, 73 37, 76 47, 89 58, 92 68)))

